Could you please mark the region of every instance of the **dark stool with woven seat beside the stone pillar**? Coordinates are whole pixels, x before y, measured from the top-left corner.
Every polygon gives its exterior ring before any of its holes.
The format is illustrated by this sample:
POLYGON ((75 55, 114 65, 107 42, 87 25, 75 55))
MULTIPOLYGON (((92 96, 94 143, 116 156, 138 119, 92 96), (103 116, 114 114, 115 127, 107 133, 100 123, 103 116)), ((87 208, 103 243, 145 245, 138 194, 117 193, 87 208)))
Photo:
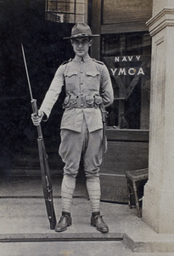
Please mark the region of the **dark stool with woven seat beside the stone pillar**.
POLYGON ((149 178, 149 169, 126 172, 128 205, 132 208, 133 199, 137 207, 138 217, 142 217, 143 187, 149 178))

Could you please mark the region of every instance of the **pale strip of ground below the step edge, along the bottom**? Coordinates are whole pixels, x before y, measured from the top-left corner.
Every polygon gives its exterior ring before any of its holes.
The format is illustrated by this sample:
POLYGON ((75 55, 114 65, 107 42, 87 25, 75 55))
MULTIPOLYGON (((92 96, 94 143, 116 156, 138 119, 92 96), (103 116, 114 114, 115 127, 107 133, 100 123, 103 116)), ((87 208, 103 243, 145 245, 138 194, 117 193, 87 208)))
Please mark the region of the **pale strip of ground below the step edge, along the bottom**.
POLYGON ((4 242, 2 256, 130 256, 123 241, 4 242))

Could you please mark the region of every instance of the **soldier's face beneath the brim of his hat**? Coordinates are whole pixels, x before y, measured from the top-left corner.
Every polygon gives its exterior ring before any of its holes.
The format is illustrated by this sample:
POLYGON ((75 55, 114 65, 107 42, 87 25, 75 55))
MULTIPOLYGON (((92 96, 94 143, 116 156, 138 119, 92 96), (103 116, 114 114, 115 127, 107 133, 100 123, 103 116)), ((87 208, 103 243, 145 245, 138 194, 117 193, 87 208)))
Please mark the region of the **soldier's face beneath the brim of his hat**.
POLYGON ((71 40, 72 47, 79 57, 87 55, 89 47, 92 45, 92 40, 89 38, 76 38, 71 40))

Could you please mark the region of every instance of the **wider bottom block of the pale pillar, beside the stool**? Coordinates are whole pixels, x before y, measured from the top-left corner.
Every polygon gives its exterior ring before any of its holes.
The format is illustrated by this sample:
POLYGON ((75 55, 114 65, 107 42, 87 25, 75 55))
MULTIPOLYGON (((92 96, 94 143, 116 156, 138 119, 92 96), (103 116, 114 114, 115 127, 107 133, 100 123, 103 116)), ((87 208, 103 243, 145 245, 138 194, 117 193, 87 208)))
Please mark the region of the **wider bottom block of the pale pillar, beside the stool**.
POLYGON ((144 188, 143 221, 160 234, 174 234, 174 189, 160 189, 149 182, 144 188))

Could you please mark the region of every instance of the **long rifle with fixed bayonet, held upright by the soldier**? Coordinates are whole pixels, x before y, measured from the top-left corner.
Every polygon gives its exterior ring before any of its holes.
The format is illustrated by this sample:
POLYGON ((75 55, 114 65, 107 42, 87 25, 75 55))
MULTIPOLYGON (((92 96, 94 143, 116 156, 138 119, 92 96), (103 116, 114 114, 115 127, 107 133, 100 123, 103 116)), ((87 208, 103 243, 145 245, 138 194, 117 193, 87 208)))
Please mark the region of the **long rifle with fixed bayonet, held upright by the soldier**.
MULTIPOLYGON (((36 105, 36 99, 33 99, 33 96, 32 96, 31 83, 28 75, 28 70, 27 70, 26 61, 25 61, 25 52, 22 44, 21 44, 21 48, 22 48, 22 54, 25 62, 25 71, 26 71, 26 76, 28 80, 29 90, 31 94, 31 108, 33 113, 37 115, 38 108, 36 105)), ((43 195, 44 195, 45 204, 47 208, 48 220, 50 222, 50 229, 54 230, 56 225, 56 217, 55 217, 55 212, 53 208, 53 188, 52 188, 52 181, 51 181, 49 166, 48 166, 48 154, 46 153, 46 150, 45 150, 41 125, 36 125, 36 129, 38 134, 37 144, 38 144, 39 160, 40 160, 41 174, 42 174, 43 195)))

